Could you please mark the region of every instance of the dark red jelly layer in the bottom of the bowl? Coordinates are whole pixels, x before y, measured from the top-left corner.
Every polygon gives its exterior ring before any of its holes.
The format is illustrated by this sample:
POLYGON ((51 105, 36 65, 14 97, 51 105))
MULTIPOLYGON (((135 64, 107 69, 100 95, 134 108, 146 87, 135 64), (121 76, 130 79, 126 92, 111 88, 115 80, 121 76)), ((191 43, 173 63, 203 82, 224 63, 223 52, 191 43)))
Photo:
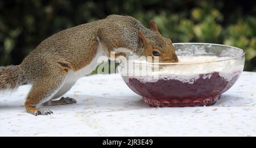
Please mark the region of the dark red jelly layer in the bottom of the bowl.
POLYGON ((152 107, 195 107, 213 105, 237 81, 242 71, 236 71, 227 80, 220 73, 200 74, 193 82, 160 77, 144 82, 144 77, 122 76, 127 86, 152 107))

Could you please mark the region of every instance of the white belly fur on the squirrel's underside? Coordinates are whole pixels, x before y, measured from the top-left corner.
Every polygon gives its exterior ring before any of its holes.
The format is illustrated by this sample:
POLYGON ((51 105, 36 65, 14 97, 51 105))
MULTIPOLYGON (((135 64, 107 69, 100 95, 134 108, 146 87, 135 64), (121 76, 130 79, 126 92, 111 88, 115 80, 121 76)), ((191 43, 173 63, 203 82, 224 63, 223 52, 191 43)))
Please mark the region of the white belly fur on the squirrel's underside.
POLYGON ((105 55, 106 53, 104 49, 102 48, 101 44, 99 44, 97 48, 97 53, 94 56, 92 62, 77 71, 69 70, 68 74, 64 79, 63 86, 57 91, 52 99, 59 98, 60 96, 64 95, 76 83, 77 79, 83 77, 84 75, 92 73, 92 71, 95 70, 96 67, 100 64, 98 63, 98 58, 105 55))

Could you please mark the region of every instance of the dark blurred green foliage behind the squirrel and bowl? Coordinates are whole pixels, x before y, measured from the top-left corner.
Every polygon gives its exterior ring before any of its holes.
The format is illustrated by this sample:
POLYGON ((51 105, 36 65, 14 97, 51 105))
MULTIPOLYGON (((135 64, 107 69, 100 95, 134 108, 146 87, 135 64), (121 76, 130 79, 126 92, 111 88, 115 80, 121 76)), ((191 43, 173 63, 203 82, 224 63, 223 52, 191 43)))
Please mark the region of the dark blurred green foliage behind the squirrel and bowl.
POLYGON ((0 1, 0 65, 19 64, 42 40, 109 14, 154 19, 174 43, 232 45, 246 51, 245 70, 256 71, 254 1, 0 1))

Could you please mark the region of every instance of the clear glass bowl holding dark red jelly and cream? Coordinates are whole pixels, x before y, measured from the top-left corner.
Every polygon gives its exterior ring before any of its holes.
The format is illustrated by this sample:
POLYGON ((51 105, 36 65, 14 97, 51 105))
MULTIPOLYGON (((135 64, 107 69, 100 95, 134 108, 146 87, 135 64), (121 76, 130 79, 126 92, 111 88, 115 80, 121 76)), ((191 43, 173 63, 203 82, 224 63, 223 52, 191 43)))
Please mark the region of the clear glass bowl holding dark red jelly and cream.
POLYGON ((242 49, 205 43, 176 43, 177 63, 122 61, 118 71, 127 86, 152 107, 209 106, 240 77, 242 49))

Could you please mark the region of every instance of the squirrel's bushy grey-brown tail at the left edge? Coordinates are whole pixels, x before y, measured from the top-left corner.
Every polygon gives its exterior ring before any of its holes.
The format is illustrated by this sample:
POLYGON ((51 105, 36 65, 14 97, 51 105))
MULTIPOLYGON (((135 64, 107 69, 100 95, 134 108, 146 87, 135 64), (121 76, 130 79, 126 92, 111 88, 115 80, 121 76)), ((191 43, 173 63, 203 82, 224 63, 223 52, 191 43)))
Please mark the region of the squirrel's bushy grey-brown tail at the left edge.
POLYGON ((26 77, 20 66, 0 67, 0 92, 12 90, 26 82, 26 77))

